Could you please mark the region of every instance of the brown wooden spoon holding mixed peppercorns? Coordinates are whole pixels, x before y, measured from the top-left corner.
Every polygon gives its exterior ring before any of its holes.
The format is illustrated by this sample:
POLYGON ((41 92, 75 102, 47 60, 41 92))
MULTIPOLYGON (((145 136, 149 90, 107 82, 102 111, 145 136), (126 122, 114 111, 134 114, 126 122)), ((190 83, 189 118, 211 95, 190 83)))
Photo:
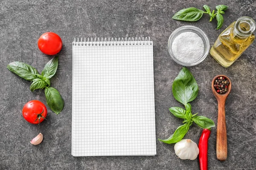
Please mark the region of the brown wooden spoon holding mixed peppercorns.
POLYGON ((227 159, 227 129, 225 119, 225 102, 227 96, 230 94, 231 81, 225 75, 218 75, 212 79, 212 92, 218 101, 218 124, 217 124, 217 139, 216 139, 216 154, 217 159, 225 161, 227 159), (215 79, 218 77, 225 77, 230 84, 227 86, 227 92, 224 94, 218 94, 214 88, 215 79))

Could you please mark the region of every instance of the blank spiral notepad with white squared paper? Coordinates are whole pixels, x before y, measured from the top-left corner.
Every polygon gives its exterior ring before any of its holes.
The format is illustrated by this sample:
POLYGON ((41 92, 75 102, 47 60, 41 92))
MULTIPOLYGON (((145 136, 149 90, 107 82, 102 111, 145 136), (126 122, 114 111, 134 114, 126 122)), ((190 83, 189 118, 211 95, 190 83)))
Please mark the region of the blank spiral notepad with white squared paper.
POLYGON ((156 154, 153 42, 73 42, 72 155, 156 154))

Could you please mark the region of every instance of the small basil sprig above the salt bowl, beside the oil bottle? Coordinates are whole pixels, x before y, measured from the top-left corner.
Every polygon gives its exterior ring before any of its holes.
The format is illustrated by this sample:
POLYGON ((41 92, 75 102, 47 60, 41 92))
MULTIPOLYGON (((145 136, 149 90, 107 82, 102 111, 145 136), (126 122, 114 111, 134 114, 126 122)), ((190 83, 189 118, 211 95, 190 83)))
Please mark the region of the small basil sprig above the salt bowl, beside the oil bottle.
POLYGON ((221 28, 224 22, 224 18, 221 14, 225 14, 224 11, 227 10, 228 6, 225 6, 225 5, 215 6, 217 11, 216 13, 214 13, 215 10, 211 12, 210 7, 207 5, 204 5, 203 7, 205 11, 202 11, 201 9, 194 8, 194 7, 181 9, 172 17, 172 19, 182 20, 182 21, 198 21, 203 16, 203 14, 209 14, 209 16, 211 17, 209 22, 212 22, 212 19, 216 17, 218 22, 217 29, 221 28))

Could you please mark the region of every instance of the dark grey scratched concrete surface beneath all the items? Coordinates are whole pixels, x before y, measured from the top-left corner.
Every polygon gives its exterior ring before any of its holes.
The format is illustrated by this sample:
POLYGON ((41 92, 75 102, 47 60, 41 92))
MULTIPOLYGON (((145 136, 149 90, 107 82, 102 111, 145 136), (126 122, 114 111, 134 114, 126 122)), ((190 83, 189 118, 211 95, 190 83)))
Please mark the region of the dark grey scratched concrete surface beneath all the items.
MULTIPOLYGON (((156 136, 169 137, 182 120, 169 113, 168 108, 181 106, 172 96, 172 82, 182 66, 169 57, 167 41, 176 28, 198 26, 213 45, 218 35, 241 16, 256 16, 255 0, 1 0, 0 1, 0 169, 88 169, 88 170, 197 170, 198 159, 180 160, 173 144, 157 139, 156 156, 71 156, 71 94, 72 41, 74 37, 147 37, 154 41, 154 82, 156 136), (195 23, 172 20, 182 8, 212 9, 219 4, 229 6, 224 15, 224 26, 215 30, 216 22, 209 23, 204 15, 195 23), (65 102, 57 116, 49 110, 47 120, 32 125, 22 117, 22 108, 32 99, 44 103, 44 91, 29 91, 30 82, 7 70, 9 62, 21 61, 42 71, 51 59, 39 51, 41 34, 53 31, 60 35, 63 48, 59 53, 59 67, 52 77, 65 102), (33 146, 29 141, 41 132, 44 141, 33 146)), ((198 97, 191 102, 192 111, 207 116, 217 123, 217 101, 210 82, 217 74, 232 80, 232 91, 227 99, 228 158, 216 159, 216 128, 209 139, 209 170, 256 169, 256 43, 230 68, 223 68, 209 55, 199 65, 189 67, 199 85, 198 97)), ((198 143, 202 129, 190 127, 186 139, 198 143)), ((147 142, 147 141, 145 141, 147 142)))

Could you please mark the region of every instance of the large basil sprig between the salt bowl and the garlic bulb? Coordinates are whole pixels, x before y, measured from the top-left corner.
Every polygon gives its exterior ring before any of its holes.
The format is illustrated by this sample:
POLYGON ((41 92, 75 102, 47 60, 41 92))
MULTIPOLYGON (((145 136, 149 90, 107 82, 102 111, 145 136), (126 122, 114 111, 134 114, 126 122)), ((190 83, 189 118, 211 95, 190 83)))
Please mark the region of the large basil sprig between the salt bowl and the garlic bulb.
POLYGON ((179 142, 186 135, 189 126, 191 126, 193 122, 201 128, 215 127, 215 124, 211 119, 205 116, 197 116, 198 113, 192 114, 191 112, 191 105, 189 102, 197 97, 198 84, 187 68, 183 67, 172 83, 172 94, 178 102, 185 106, 185 109, 172 107, 169 108, 169 110, 174 116, 184 119, 184 124, 179 126, 168 139, 158 140, 168 144, 179 142))

